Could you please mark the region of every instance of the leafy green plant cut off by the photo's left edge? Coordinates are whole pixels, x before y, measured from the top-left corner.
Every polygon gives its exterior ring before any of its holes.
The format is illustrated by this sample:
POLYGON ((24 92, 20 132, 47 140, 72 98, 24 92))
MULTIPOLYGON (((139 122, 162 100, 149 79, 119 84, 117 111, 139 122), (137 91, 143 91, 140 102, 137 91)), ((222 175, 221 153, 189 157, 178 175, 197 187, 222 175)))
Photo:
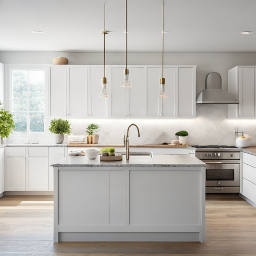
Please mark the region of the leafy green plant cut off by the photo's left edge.
POLYGON ((1 144, 3 144, 3 138, 8 138, 14 131, 15 124, 13 122, 12 114, 9 111, 0 109, 0 137, 1 144))

